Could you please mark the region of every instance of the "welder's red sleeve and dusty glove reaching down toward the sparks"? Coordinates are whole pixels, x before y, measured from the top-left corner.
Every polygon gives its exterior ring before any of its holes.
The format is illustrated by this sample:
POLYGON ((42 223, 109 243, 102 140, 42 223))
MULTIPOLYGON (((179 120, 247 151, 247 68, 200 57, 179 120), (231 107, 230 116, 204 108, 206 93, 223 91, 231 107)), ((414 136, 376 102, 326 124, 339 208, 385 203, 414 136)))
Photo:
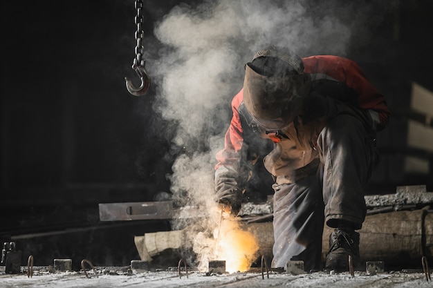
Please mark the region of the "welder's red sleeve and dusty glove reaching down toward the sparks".
MULTIPOLYGON (((232 100, 232 120, 225 133, 224 148, 216 153, 215 190, 216 198, 222 199, 237 194, 239 198, 239 177, 241 177, 241 159, 243 153, 243 129, 237 107, 243 100, 242 90, 232 100)), ((240 201, 240 199, 237 199, 240 201)))

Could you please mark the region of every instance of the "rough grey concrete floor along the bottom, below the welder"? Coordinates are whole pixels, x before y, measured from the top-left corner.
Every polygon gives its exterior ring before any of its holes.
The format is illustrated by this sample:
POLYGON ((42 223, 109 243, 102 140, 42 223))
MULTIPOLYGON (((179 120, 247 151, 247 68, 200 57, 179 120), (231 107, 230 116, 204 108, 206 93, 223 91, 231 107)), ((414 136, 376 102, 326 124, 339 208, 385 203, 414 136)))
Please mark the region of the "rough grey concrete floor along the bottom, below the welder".
MULTIPOLYGON (((27 267, 23 267, 26 271, 27 267)), ((88 271, 87 278, 83 271, 52 273, 49 269, 35 267, 33 277, 26 272, 21 274, 0 273, 0 287, 432 287, 421 271, 389 271, 367 276, 365 272, 356 271, 352 278, 349 273, 330 274, 317 272, 302 275, 270 272, 262 276, 257 273, 212 274, 190 271, 179 277, 177 267, 173 271, 137 272, 127 267, 96 267, 98 275, 88 271), (263 277, 263 278, 262 278, 263 277)))

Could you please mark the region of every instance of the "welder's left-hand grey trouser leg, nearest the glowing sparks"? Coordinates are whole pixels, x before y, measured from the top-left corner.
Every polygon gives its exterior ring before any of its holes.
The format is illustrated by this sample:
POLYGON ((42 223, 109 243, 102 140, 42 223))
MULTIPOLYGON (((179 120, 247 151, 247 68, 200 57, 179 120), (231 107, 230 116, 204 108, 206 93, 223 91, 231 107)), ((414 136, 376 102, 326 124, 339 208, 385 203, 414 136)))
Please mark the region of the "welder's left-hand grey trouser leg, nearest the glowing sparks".
POLYGON ((304 260, 306 271, 322 269, 324 206, 317 175, 294 184, 274 184, 273 267, 304 260))

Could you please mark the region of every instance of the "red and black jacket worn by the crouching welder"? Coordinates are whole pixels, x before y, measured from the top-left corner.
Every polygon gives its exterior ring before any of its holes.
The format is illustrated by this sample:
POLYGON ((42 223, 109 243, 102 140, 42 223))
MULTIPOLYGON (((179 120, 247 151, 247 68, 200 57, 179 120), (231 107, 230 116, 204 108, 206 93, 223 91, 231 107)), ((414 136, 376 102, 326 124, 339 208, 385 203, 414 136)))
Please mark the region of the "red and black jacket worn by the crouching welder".
MULTIPOLYGON (((331 55, 306 57, 302 58, 302 62, 304 73, 312 78, 311 90, 350 104, 368 115, 372 131, 380 131, 387 126, 389 110, 385 97, 367 80, 356 62, 331 55)), ((259 128, 243 104, 243 90, 232 99, 232 113, 224 148, 216 154, 217 194, 239 185, 241 164, 248 154, 246 149, 256 148, 246 138, 251 131, 259 131, 259 128)), ((259 138, 259 135, 256 137, 259 138)))

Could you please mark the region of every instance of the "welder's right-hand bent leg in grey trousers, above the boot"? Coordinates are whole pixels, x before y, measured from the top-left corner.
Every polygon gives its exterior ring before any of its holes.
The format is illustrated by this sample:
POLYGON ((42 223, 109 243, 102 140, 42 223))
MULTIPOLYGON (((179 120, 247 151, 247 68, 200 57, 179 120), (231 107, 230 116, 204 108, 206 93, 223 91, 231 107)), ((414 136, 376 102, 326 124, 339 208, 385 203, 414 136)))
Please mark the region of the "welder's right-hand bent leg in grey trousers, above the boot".
POLYGON ((342 220, 360 229, 365 220, 365 186, 376 162, 371 135, 351 115, 333 118, 317 140, 323 171, 325 220, 337 228, 342 220))

